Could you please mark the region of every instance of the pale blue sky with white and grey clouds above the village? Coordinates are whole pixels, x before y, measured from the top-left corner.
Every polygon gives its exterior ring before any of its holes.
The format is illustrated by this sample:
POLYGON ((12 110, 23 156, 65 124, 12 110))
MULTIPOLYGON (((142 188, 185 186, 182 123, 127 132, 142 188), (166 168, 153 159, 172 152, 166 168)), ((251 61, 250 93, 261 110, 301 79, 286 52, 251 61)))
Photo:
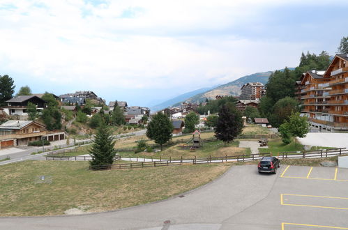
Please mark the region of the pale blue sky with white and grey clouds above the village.
POLYGON ((151 106, 337 52, 348 1, 0 0, 0 75, 16 90, 151 106))

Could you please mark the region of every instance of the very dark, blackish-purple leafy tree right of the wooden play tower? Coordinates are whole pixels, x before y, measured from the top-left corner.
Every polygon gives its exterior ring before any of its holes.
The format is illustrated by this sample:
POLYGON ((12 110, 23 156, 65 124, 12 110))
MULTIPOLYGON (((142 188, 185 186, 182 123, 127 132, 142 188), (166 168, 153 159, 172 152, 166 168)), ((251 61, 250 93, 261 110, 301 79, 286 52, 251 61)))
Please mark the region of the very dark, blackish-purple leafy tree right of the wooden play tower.
POLYGON ((243 119, 241 112, 231 104, 222 105, 215 129, 215 137, 224 141, 226 146, 226 143, 233 141, 234 138, 241 134, 242 130, 243 119))

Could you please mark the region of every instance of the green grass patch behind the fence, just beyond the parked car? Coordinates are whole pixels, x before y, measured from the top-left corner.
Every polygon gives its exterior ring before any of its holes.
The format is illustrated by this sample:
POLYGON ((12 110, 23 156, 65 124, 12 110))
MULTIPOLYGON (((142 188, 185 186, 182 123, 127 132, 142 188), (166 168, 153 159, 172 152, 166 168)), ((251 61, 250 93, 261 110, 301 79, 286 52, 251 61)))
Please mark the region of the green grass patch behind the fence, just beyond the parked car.
POLYGON ((273 155, 278 155, 279 152, 291 152, 291 151, 303 151, 303 145, 293 140, 290 144, 282 143, 281 138, 273 139, 268 141, 268 148, 259 148, 260 153, 269 153, 273 155))

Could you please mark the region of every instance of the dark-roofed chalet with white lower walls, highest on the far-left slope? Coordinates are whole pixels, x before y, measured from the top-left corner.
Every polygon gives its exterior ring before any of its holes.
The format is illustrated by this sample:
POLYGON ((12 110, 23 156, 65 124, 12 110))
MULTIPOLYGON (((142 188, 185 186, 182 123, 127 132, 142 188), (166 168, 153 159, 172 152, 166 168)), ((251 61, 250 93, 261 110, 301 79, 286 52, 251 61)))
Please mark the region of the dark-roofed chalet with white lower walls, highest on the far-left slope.
POLYGON ((8 115, 28 116, 27 107, 31 102, 36 105, 36 110, 42 112, 46 108, 45 100, 38 98, 36 95, 20 95, 10 100, 7 100, 7 106, 3 107, 3 110, 8 115))

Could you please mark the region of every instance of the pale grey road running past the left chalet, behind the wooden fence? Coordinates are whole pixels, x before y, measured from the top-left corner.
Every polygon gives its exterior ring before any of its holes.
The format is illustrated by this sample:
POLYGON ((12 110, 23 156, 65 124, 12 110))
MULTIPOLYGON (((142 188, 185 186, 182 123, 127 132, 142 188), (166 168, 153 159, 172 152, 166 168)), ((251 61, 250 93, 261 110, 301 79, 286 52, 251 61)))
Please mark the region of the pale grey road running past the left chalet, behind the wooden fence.
MULTIPOLYGON (((146 130, 139 130, 136 132, 130 132, 128 134, 133 134, 135 136, 145 135, 146 130)), ((126 138, 126 137, 121 137, 124 135, 126 135, 126 134, 115 135, 114 137, 116 139, 126 138)), ((89 141, 89 139, 76 140, 76 143, 79 144, 79 143, 82 143, 84 141, 89 141)), ((71 142, 73 142, 73 141, 70 141, 70 143, 71 142)), ((47 148, 53 149, 55 146, 59 147, 59 148, 68 147, 66 145, 66 141, 64 140, 64 141, 54 141, 54 142, 52 142, 52 144, 50 146, 45 146, 45 149, 47 149, 47 148)), ((73 143, 71 143, 70 146, 72 146, 72 148, 74 148, 73 143)), ((22 146, 22 147, 16 147, 16 148, 2 149, 2 150, 0 150, 0 160, 3 158, 6 158, 6 157, 9 157, 10 160, 2 161, 2 162, 0 162, 0 165, 10 164, 13 162, 19 162, 22 160, 45 160, 45 158, 43 158, 43 155, 47 155, 47 152, 36 154, 36 155, 31 155, 31 153, 41 151, 41 150, 42 150, 41 147, 32 147, 32 146, 22 146)))

